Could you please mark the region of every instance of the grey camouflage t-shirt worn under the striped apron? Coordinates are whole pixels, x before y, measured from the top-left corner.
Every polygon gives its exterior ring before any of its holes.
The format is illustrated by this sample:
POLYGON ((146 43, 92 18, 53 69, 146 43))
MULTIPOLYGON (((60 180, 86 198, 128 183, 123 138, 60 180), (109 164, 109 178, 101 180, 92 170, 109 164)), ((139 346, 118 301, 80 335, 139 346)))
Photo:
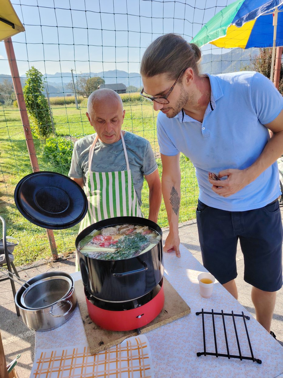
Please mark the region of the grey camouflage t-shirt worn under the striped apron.
MULTIPOLYGON (((75 142, 69 177, 83 178, 86 184, 88 172, 88 156, 96 133, 87 135, 75 142)), ((124 141, 128 153, 129 166, 132 173, 135 192, 141 204, 143 175, 150 175, 157 169, 154 153, 148 140, 141 136, 125 132, 124 141)), ((95 144, 91 169, 93 172, 114 172, 126 170, 125 153, 122 140, 106 144, 97 140, 95 144)))

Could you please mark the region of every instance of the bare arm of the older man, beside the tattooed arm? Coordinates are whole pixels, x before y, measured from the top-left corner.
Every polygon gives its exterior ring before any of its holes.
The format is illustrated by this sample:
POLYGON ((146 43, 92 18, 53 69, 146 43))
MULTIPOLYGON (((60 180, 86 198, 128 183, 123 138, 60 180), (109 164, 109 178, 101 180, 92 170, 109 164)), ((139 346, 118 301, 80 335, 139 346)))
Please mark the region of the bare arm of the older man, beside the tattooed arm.
POLYGON ((157 223, 158 213, 161 204, 161 183, 158 169, 150 175, 145 175, 149 188, 149 216, 148 219, 157 223))

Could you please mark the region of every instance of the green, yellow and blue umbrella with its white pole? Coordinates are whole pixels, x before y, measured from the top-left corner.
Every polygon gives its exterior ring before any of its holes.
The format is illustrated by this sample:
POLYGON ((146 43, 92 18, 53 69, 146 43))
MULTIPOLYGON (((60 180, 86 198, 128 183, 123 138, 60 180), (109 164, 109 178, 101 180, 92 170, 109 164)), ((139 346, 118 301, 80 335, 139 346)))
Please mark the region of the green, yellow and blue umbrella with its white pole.
POLYGON ((237 0, 215 14, 191 42, 224 48, 273 47, 273 75, 275 46, 283 46, 283 0, 237 0))

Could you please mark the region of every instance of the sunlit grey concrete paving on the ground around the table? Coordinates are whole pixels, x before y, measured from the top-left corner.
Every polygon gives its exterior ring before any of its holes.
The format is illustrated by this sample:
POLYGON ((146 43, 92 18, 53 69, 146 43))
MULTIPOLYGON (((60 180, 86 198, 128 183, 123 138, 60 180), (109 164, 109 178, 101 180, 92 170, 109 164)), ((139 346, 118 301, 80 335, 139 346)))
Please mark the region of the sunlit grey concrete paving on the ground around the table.
MULTIPOLYGON (((280 206, 280 208, 283 220, 283 208, 282 206, 280 206)), ((196 221, 192 220, 180 225, 179 230, 181 243, 198 261, 202 262, 196 221)), ((168 230, 165 229, 163 235, 165 240, 168 235, 168 230)), ((255 316, 254 305, 251 301, 251 287, 243 280, 243 267, 243 254, 238 246, 238 277, 236 279, 239 294, 238 301, 255 316)), ((65 271, 67 273, 73 273, 75 271, 75 259, 74 256, 71 256, 69 259, 57 262, 46 263, 39 261, 34 265, 25 266, 24 268, 25 270, 21 270, 19 273, 20 277, 25 280, 46 271, 65 271)), ((17 283, 15 285, 18 289, 19 285, 17 285, 17 283)), ((283 346, 283 288, 277 293, 271 329, 277 336, 278 342, 283 346)), ((28 378, 34 361, 35 332, 29 330, 22 322, 22 318, 17 316, 9 280, 0 282, 0 332, 7 363, 11 362, 18 354, 21 354, 16 366, 16 371, 19 377, 28 378)), ((72 330, 72 332, 74 332, 74 330, 72 330)))

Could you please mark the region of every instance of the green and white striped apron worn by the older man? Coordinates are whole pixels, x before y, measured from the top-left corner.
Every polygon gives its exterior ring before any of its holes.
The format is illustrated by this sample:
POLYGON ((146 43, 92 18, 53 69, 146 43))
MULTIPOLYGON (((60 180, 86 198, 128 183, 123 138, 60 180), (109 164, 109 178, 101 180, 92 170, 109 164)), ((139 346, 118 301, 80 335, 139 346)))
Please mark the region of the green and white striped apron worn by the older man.
MULTIPOLYGON (((79 232, 93 223, 107 218, 143 217, 135 194, 123 133, 122 131, 120 133, 127 165, 126 170, 92 172, 91 162, 98 135, 96 135, 89 150, 88 173, 86 175, 86 186, 84 187, 88 198, 88 212, 80 224, 79 232)), ((78 256, 76 256, 76 271, 78 270, 78 256)))

